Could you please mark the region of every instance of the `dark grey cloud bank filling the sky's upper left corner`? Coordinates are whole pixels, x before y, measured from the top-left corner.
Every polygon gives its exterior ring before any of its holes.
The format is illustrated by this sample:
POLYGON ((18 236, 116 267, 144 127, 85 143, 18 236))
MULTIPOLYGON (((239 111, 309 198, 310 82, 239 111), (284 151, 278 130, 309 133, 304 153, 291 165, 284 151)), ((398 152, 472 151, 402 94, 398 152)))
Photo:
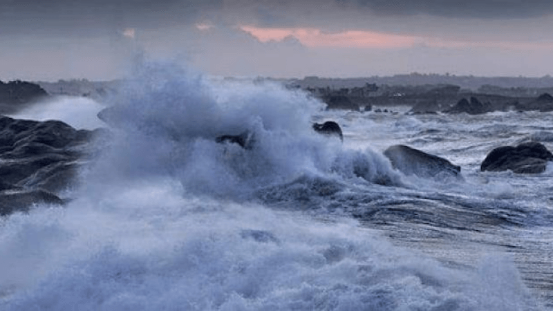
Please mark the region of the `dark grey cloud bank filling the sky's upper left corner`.
POLYGON ((0 35, 102 32, 191 24, 222 0, 1 0, 0 35))

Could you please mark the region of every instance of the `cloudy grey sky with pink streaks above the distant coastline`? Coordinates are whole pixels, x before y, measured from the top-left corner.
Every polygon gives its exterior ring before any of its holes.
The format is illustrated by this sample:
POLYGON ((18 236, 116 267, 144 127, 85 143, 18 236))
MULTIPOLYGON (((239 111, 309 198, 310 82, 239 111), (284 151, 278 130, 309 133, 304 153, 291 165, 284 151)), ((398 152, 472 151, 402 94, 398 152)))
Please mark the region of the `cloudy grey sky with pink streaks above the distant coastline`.
POLYGON ((0 80, 553 73, 550 0, 0 0, 0 80))

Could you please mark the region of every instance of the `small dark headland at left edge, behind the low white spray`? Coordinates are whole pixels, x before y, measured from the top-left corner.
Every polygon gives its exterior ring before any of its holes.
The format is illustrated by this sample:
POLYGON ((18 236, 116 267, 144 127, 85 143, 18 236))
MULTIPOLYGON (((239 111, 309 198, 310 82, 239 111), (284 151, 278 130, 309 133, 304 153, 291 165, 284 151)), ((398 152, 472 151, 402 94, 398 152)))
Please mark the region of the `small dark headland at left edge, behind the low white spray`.
POLYGON ((48 96, 38 84, 24 81, 0 81, 0 113, 15 113, 35 100, 48 96))

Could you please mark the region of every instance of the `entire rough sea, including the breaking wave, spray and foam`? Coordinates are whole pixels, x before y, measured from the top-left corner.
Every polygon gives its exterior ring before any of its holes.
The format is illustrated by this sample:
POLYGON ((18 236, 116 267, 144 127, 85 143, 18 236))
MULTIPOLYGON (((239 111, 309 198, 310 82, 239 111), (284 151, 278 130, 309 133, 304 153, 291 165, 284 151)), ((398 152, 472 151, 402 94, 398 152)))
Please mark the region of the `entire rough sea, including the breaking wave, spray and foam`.
POLYGON ((384 108, 149 62, 102 102, 21 112, 110 135, 65 206, 0 219, 0 310, 553 310, 553 166, 480 171, 496 147, 551 150, 553 113, 384 108), (328 120, 343 142, 313 131, 328 120), (406 176, 394 144, 462 177, 406 176))

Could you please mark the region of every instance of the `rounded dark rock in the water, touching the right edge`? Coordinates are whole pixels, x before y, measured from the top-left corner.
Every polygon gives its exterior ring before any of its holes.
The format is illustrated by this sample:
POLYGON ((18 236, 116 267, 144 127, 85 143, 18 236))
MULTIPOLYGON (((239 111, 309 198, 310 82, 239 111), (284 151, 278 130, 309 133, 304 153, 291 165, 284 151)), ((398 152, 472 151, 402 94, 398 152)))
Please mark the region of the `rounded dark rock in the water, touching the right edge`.
POLYGON ((553 154, 538 142, 526 142, 517 147, 504 146, 492 150, 480 165, 481 171, 542 173, 553 154))

